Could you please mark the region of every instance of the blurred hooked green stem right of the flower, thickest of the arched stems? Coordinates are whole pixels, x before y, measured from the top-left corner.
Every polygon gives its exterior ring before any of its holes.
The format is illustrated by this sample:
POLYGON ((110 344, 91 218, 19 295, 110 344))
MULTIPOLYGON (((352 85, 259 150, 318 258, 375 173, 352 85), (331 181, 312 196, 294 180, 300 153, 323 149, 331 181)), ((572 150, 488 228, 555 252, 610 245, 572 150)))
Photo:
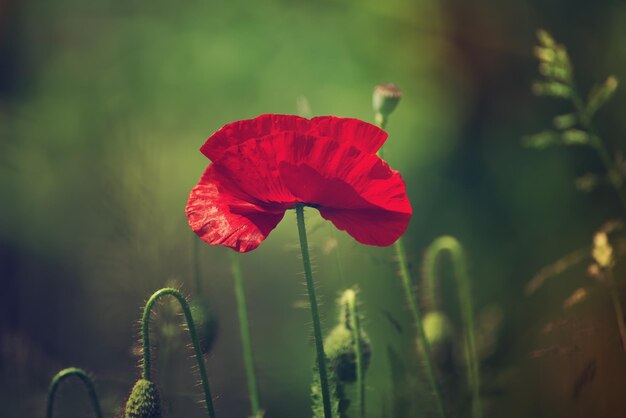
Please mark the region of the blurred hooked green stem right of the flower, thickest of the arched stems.
POLYGON ((461 308, 461 321, 465 331, 465 357, 467 361, 467 378, 472 391, 472 413, 474 418, 483 416, 480 399, 480 364, 476 350, 476 336, 474 334, 474 307, 470 292, 470 280, 467 273, 465 253, 461 243, 454 237, 443 236, 437 238, 424 254, 424 283, 429 291, 429 298, 437 301, 437 286, 435 266, 439 254, 447 251, 450 253, 456 280, 457 295, 461 308))

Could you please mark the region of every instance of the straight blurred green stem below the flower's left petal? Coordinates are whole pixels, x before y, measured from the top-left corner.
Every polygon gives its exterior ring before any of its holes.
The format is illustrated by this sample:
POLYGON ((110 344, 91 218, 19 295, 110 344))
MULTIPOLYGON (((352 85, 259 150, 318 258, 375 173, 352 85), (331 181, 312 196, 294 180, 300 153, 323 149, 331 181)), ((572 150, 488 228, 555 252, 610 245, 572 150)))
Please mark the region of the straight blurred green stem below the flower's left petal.
POLYGON ((254 357, 252 355, 252 343, 250 338, 250 325, 248 321, 248 306, 246 304, 246 294, 243 286, 243 274, 239 257, 229 253, 230 267, 235 280, 235 296, 237 298, 237 313, 239 315, 239 332, 241 334, 241 346, 243 350, 243 360, 246 368, 246 378, 248 380, 248 396, 250 397, 250 407, 252 416, 259 416, 261 408, 259 406, 259 390, 256 382, 254 370, 254 357))

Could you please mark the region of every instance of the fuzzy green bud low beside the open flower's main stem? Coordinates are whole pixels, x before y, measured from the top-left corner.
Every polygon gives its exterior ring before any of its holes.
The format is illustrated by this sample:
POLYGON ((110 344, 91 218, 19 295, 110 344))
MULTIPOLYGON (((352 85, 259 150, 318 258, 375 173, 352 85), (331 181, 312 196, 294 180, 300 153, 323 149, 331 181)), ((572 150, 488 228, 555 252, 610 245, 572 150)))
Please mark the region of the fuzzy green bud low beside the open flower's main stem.
MULTIPOLYGON (((362 330, 359 345, 361 346, 363 371, 365 371, 369 366, 372 348, 369 338, 362 330)), ((352 330, 343 324, 337 325, 324 340, 324 351, 326 351, 330 365, 341 382, 352 383, 356 381, 356 352, 352 330)))

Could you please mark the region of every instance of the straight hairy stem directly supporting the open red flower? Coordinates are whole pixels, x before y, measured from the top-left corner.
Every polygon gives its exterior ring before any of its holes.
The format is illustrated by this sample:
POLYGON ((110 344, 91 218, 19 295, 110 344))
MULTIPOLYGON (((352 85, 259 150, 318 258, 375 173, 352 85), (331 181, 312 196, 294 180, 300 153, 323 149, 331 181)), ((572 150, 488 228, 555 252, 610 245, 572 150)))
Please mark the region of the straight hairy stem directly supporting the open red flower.
POLYGON ((324 352, 324 341, 322 339, 322 325, 317 308, 317 298, 315 296, 315 285, 313 283, 313 272, 311 271, 311 259, 309 257, 309 244, 306 237, 306 225, 304 223, 304 205, 296 204, 296 218, 298 222, 298 234, 300 236, 300 249, 302 251, 302 264, 304 265, 304 276, 306 287, 309 293, 309 303, 311 305, 311 317, 313 319, 313 336, 315 337, 315 349, 317 353, 317 368, 320 374, 320 386, 322 388, 322 401, 324 404, 324 417, 332 418, 330 405, 330 390, 328 387, 328 369, 326 368, 326 354, 324 352))

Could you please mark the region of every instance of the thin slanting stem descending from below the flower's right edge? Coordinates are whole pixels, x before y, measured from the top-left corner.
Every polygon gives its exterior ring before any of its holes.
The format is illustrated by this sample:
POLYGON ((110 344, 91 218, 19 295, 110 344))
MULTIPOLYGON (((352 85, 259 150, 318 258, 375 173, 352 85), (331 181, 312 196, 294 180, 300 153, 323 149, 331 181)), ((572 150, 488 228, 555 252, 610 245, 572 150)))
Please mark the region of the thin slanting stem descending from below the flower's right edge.
POLYGON ((428 381, 430 382, 430 386, 432 387, 435 393, 435 400, 437 402, 437 410, 440 417, 445 417, 445 410, 443 407, 443 396, 441 386, 439 385, 439 381, 435 376, 435 366, 432 361, 432 357, 430 354, 430 344, 428 343, 428 339, 426 339, 426 333, 424 332, 424 324, 422 323, 422 315, 420 313, 419 305, 417 304, 417 297, 415 296, 415 292, 413 291, 413 286, 411 284, 411 274, 409 272, 409 264, 406 258, 406 251, 404 249, 404 242, 402 238, 399 238, 395 244, 394 249, 396 252, 396 258, 398 260, 398 265, 400 267, 400 279, 402 281, 402 287, 404 288, 404 294, 406 296, 407 301, 409 302, 409 309, 411 310, 411 315, 413 316, 413 323, 415 324, 415 330, 417 331, 417 339, 419 341, 420 347, 424 352, 424 363, 426 365, 426 374, 428 376, 428 381))

